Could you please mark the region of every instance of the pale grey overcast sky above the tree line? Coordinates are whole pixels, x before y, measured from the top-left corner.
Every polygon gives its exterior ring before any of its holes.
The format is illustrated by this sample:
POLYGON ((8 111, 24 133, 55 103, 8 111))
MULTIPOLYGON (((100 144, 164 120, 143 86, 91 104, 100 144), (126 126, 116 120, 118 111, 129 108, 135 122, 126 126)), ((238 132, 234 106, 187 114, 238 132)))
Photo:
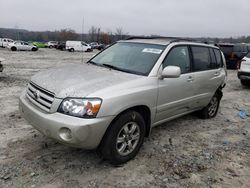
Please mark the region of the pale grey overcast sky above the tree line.
POLYGON ((131 35, 250 35, 250 0, 0 0, 0 27, 84 32, 122 27, 131 35))

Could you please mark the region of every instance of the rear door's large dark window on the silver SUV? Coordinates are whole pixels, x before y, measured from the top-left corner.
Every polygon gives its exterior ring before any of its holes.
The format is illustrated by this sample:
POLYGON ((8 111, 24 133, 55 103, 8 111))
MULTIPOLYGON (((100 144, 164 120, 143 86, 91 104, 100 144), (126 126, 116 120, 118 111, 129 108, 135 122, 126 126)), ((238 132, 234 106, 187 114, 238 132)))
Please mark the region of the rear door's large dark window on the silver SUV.
POLYGON ((194 71, 204 71, 211 69, 210 54, 207 47, 192 46, 194 71))

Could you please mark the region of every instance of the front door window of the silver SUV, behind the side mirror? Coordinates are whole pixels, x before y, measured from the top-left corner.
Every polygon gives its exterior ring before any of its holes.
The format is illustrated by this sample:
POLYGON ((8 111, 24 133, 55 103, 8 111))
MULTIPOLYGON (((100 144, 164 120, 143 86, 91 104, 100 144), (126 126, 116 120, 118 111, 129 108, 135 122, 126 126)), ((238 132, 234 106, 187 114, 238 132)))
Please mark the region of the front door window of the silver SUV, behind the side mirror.
POLYGON ((187 46, 177 46, 171 49, 165 60, 163 61, 163 68, 173 65, 181 68, 181 73, 190 71, 190 57, 187 46))

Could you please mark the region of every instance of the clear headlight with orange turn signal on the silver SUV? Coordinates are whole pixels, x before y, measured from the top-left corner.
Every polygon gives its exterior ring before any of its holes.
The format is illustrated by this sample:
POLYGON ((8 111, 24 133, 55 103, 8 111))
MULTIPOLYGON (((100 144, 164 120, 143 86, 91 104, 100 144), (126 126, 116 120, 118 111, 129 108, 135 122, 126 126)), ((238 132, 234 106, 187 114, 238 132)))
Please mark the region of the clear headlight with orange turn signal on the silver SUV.
POLYGON ((95 118, 101 107, 101 99, 66 98, 62 101, 58 112, 81 118, 95 118))

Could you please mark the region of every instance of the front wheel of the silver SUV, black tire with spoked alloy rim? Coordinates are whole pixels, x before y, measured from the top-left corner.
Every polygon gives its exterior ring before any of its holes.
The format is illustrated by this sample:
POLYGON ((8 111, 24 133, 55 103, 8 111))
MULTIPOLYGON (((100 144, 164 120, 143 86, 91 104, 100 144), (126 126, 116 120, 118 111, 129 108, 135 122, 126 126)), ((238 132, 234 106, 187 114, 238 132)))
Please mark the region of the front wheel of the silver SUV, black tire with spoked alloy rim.
POLYGON ((146 133, 143 117, 127 111, 110 125, 98 148, 103 159, 119 165, 133 159, 139 152, 146 133))

